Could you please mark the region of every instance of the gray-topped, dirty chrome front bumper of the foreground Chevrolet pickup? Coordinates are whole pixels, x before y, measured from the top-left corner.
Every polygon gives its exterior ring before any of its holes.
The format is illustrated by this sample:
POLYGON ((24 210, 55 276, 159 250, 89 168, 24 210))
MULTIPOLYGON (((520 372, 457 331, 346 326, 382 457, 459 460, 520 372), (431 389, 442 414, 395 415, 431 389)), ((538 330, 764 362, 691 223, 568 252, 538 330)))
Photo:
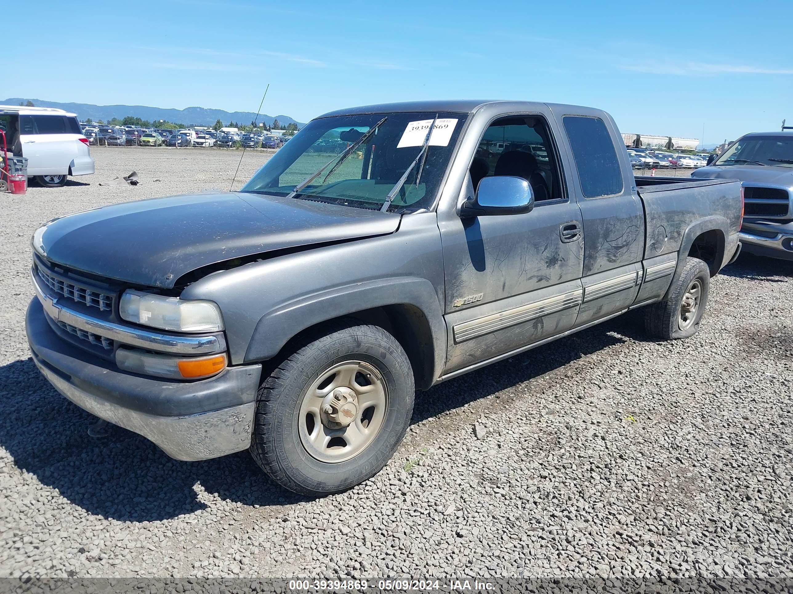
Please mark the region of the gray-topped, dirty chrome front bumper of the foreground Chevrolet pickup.
POLYGON ((136 432, 178 460, 204 460, 251 443, 262 366, 228 367, 196 382, 120 371, 64 341, 39 299, 25 316, 33 361, 44 378, 77 406, 136 432))

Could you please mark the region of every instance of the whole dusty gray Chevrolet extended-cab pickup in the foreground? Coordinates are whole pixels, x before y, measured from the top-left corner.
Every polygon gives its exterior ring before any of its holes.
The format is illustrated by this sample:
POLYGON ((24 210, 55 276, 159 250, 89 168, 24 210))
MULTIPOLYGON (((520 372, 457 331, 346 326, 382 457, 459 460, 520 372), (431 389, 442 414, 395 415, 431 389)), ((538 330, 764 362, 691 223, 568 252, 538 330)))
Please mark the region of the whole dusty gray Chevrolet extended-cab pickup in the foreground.
POLYGON ((622 145, 573 105, 325 114, 239 192, 36 230, 33 360, 175 459, 249 449, 288 489, 349 489, 396 451, 416 388, 637 307, 662 340, 699 329, 740 184, 634 179, 622 145))

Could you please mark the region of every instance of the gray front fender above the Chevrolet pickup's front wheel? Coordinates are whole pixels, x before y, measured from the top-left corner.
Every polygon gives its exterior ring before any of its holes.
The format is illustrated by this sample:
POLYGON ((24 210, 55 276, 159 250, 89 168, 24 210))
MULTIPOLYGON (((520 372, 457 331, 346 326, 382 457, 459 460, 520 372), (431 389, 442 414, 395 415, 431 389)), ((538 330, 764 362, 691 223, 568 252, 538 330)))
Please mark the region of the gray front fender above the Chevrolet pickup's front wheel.
POLYGON ((214 272, 181 296, 220 306, 235 365, 274 356, 317 323, 374 307, 408 306, 426 318, 422 335, 434 351, 434 363, 427 361, 432 371, 446 359, 444 287, 440 231, 435 213, 427 212, 405 216, 392 234, 307 246, 214 272))

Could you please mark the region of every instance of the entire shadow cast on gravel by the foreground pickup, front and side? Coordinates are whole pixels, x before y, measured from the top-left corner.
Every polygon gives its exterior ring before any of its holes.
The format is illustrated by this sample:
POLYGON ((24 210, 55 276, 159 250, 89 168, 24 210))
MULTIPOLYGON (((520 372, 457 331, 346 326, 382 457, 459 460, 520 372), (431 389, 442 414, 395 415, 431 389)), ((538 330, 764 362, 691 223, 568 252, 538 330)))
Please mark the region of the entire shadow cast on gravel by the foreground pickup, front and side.
MULTIPOLYGON (((633 325, 630 319, 617 318, 419 392, 412 423, 622 344, 623 336, 634 333, 633 325)), ((92 438, 87 429, 94 421, 96 417, 60 396, 33 360, 0 367, 0 445, 13 457, 13 464, 0 467, 0 476, 33 474, 86 512, 135 522, 206 508, 197 483, 222 501, 268 506, 275 512, 279 506, 308 501, 271 482, 245 451, 205 462, 178 462, 143 437, 113 425, 107 436, 92 438)), ((17 484, 26 481, 14 479, 17 484)), ((59 506, 57 500, 53 505, 59 506)))

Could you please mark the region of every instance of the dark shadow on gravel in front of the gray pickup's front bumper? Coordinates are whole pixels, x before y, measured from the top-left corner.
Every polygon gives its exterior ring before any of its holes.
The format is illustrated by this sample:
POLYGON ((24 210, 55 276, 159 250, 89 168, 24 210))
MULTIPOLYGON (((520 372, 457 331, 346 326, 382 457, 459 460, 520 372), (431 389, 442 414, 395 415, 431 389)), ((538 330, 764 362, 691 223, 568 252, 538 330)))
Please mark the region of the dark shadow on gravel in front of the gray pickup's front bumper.
MULTIPOLYGON (((0 483, 9 482, 4 473, 30 473, 86 512, 136 522, 206 508, 195 488, 199 482, 222 501, 244 505, 278 508, 307 501, 271 482, 247 451, 178 462, 143 437, 113 425, 108 436, 94 439, 87 429, 95 421, 58 394, 33 360, 0 367, 0 445, 13 457, 13 464, 0 466, 0 483)), ((29 479, 17 476, 13 482, 29 479)), ((62 504, 56 500, 48 505, 62 504)))

